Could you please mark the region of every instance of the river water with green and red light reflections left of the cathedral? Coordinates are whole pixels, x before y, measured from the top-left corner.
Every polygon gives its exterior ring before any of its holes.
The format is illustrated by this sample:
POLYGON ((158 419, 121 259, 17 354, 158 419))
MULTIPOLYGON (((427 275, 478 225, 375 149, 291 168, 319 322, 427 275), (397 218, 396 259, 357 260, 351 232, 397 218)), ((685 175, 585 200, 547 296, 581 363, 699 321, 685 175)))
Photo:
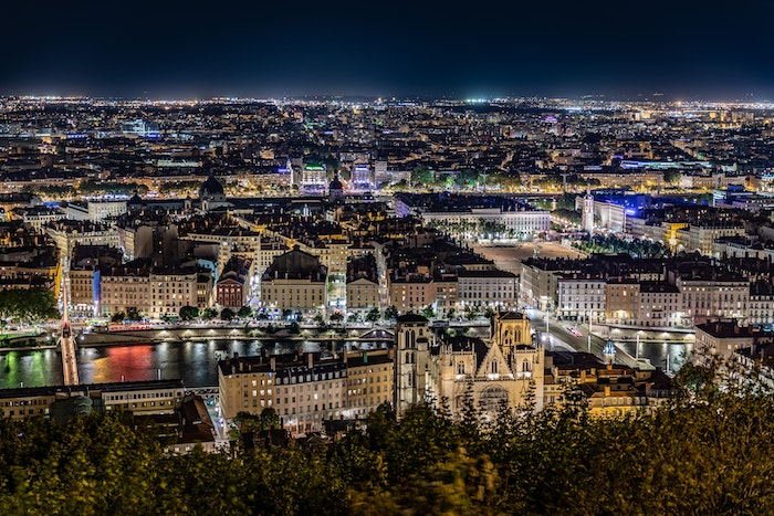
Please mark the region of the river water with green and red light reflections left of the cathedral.
MULTIPOLYGON (((341 350, 344 343, 333 344, 341 350)), ((268 341, 276 351, 292 352, 293 341, 268 341)), ((261 352, 259 340, 189 340, 157 345, 85 347, 77 350, 82 383, 182 378, 187 387, 218 385, 216 355, 253 356, 261 352)), ((326 345, 304 341, 302 350, 315 351, 326 345)), ((348 347, 348 346, 347 346, 348 347)), ((53 349, 0 354, 0 389, 62 385, 61 356, 53 349)))

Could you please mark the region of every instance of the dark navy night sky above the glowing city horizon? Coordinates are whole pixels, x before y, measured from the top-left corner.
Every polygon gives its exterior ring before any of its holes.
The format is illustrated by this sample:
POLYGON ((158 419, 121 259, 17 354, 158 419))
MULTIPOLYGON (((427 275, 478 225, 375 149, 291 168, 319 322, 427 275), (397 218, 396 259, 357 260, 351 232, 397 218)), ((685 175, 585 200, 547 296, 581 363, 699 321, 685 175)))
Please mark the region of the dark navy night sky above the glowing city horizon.
POLYGON ((0 94, 774 99, 774 2, 717 3, 7 0, 0 94))

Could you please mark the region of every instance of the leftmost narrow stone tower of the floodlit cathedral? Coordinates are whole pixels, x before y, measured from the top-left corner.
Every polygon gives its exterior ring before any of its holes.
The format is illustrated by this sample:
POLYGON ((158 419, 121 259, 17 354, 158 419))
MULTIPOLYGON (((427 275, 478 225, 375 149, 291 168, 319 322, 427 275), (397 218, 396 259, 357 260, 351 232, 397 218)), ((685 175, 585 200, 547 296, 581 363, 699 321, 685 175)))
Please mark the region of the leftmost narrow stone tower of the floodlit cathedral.
POLYGON ((430 341, 432 333, 421 315, 406 314, 395 326, 395 411, 400 418, 412 404, 425 401, 430 388, 430 341))

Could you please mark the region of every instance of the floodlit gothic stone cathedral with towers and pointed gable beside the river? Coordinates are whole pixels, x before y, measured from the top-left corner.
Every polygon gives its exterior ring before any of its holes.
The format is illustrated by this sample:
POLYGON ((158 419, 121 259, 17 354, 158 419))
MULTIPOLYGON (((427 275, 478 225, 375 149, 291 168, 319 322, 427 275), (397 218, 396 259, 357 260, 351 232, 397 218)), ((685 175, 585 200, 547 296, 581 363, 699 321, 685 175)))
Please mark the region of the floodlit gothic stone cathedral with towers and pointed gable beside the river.
POLYGON ((488 340, 440 334, 417 314, 398 317, 395 356, 395 409, 428 401, 460 417, 470 398, 484 420, 505 403, 543 408, 545 356, 532 345, 530 320, 520 313, 493 316, 488 340))

